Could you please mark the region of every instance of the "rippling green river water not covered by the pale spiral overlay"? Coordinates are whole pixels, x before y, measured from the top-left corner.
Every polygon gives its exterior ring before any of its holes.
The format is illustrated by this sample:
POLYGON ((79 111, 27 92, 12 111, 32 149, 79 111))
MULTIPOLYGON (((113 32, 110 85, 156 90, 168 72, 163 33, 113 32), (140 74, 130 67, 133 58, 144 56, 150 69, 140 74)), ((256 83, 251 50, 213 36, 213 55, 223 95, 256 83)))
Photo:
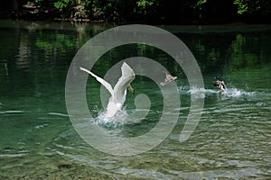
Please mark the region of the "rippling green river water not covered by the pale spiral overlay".
MULTIPOLYGON (((271 26, 163 26, 192 50, 204 89, 190 88, 182 68, 157 49, 130 45, 101 57, 93 67, 99 76, 118 60, 135 55, 154 58, 178 76, 182 107, 175 128, 159 146, 131 157, 89 146, 71 125, 65 105, 72 58, 87 40, 110 27, 0 23, 0 179, 270 178, 271 26), (222 94, 211 85, 218 74, 228 85, 222 94), (201 121, 191 138, 180 143, 191 94, 200 91, 201 121)), ((89 111, 108 133, 135 137, 157 123, 163 111, 158 86, 143 76, 136 77, 133 86, 135 95, 127 94, 125 112, 135 111, 136 94, 147 94, 152 102, 148 115, 136 123, 107 121, 100 85, 89 77, 89 111)))

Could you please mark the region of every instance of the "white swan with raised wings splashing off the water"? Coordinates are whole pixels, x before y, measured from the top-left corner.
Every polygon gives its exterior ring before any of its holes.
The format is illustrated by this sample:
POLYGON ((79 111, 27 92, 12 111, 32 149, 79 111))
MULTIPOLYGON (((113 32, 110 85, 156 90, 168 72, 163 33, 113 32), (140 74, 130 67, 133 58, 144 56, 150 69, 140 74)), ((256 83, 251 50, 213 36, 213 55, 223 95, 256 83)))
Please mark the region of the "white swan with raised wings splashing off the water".
POLYGON ((80 70, 83 70, 89 73, 89 75, 94 76, 98 80, 98 82, 104 85, 111 94, 111 97, 109 98, 107 104, 107 117, 113 117, 115 116, 117 111, 121 110, 123 104, 126 101, 127 88, 134 94, 134 89, 132 88, 130 83, 135 79, 135 73, 133 69, 126 64, 126 62, 124 62, 121 67, 122 76, 118 79, 117 84, 114 86, 114 89, 109 83, 107 83, 107 81, 105 81, 99 76, 94 75, 88 69, 80 67, 80 70))

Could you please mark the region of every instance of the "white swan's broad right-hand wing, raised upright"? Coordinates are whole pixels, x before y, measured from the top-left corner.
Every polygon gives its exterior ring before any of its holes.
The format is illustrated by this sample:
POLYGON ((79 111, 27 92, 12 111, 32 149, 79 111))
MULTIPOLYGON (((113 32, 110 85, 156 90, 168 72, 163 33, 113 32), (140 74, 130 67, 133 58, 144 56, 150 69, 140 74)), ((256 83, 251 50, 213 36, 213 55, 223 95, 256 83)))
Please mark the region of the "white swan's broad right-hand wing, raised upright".
POLYGON ((114 101, 116 103, 124 103, 126 100, 126 88, 135 79, 135 73, 126 62, 121 67, 122 76, 118 79, 114 87, 114 101))

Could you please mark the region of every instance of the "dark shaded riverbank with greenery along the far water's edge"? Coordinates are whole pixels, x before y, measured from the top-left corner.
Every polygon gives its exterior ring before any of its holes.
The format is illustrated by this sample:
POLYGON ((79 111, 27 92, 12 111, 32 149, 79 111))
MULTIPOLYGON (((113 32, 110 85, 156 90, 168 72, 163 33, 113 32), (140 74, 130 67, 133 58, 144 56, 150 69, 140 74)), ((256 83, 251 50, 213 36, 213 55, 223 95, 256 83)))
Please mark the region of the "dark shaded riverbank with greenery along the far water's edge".
POLYGON ((229 1, 222 1, 220 4, 211 4, 208 1, 204 5, 192 4, 190 2, 187 3, 189 5, 178 6, 173 4, 173 2, 165 3, 162 0, 155 0, 156 4, 145 4, 144 7, 138 4, 137 1, 135 1, 137 4, 134 1, 126 4, 123 4, 124 2, 117 3, 117 1, 112 1, 112 4, 108 2, 104 4, 87 4, 86 2, 88 1, 72 4, 72 1, 68 0, 70 4, 58 4, 61 1, 57 0, 51 1, 51 3, 43 0, 4 3, 0 7, 0 19, 118 24, 145 23, 154 25, 271 23, 270 14, 268 13, 271 12, 268 10, 271 8, 271 4, 267 4, 265 7, 258 7, 262 11, 251 9, 251 12, 240 13, 237 4, 232 4, 229 1))

